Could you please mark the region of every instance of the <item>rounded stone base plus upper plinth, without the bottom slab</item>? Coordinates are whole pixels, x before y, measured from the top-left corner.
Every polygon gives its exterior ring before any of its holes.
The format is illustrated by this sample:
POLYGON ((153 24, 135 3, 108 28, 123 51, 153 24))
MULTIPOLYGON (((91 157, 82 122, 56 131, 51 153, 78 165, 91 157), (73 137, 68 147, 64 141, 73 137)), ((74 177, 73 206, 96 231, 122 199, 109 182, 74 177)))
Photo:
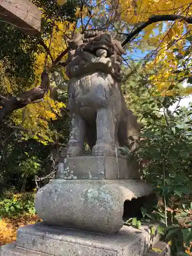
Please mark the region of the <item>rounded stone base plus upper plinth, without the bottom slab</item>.
POLYGON ((112 234, 123 226, 123 217, 138 217, 141 206, 153 201, 152 187, 139 177, 134 161, 66 158, 57 179, 37 192, 35 209, 48 225, 112 234))

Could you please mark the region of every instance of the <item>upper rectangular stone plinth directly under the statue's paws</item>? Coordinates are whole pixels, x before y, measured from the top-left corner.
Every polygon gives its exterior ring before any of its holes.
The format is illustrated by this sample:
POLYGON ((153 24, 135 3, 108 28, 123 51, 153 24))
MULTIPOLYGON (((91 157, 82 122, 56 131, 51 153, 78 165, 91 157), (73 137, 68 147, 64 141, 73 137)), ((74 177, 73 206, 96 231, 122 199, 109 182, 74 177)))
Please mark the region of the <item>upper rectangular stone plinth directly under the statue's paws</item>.
POLYGON ((134 160, 115 157, 70 157, 58 164, 57 179, 139 179, 134 160))

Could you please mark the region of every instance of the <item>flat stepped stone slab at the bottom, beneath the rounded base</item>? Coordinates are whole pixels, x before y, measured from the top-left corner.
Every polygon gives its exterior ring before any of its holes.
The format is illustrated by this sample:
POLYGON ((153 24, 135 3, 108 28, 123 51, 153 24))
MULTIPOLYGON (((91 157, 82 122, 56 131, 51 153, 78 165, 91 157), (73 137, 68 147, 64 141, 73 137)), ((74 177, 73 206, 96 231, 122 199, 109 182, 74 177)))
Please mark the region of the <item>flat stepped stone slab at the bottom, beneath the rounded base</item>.
POLYGON ((16 244, 3 246, 1 256, 140 256, 159 240, 150 229, 123 226, 109 236, 75 229, 48 227, 44 223, 18 229, 16 244), (16 247, 15 247, 16 246, 16 247), (23 252, 26 250, 26 254, 23 252), (12 253, 8 254, 7 251, 12 253), (19 253, 20 251, 20 253, 19 253), (32 254, 33 252, 33 254, 32 254))

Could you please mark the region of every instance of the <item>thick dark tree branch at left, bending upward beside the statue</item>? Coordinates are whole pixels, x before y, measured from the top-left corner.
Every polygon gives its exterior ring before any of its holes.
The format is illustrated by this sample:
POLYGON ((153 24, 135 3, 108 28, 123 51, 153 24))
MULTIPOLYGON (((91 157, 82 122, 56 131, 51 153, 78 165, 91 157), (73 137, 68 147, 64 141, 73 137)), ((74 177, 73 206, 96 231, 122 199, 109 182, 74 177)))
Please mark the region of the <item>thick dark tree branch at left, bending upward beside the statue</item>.
POLYGON ((22 109, 29 103, 42 99, 50 90, 49 76, 46 71, 41 74, 41 84, 27 92, 6 98, 0 95, 0 124, 5 124, 6 117, 17 109, 22 109))

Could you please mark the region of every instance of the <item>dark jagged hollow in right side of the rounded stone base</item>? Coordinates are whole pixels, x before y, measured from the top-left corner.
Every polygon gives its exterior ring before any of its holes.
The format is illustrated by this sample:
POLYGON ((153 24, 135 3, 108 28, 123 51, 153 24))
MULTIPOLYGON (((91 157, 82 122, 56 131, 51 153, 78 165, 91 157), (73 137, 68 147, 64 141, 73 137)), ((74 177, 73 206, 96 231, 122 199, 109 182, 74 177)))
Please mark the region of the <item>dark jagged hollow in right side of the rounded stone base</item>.
POLYGON ((143 218, 141 207, 147 208, 148 212, 152 212, 157 203, 158 200, 155 193, 144 197, 133 198, 131 201, 124 201, 123 221, 127 221, 130 218, 143 218))

